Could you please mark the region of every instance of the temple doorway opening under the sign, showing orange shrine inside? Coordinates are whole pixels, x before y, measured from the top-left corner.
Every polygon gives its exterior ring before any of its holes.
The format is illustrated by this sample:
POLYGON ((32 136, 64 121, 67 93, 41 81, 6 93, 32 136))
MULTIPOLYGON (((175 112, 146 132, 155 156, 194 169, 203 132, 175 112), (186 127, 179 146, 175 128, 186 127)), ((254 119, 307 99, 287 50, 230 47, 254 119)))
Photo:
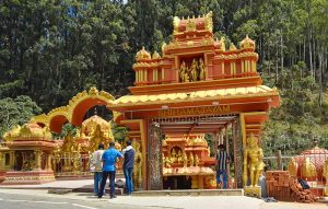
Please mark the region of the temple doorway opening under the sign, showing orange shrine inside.
POLYGON ((148 124, 148 189, 213 188, 219 144, 232 159, 229 187, 243 187, 238 114, 152 118, 148 124))

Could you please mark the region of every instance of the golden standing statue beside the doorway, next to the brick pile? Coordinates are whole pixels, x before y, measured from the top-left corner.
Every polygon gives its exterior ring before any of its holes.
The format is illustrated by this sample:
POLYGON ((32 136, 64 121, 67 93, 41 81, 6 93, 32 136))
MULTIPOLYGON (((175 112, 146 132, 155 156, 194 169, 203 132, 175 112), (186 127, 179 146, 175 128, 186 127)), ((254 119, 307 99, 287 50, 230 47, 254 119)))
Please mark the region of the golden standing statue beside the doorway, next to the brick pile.
POLYGON ((253 133, 247 139, 247 148, 244 151, 244 185, 247 185, 248 172, 250 186, 257 186, 259 177, 263 171, 265 163, 262 162, 263 151, 258 147, 258 138, 253 133))

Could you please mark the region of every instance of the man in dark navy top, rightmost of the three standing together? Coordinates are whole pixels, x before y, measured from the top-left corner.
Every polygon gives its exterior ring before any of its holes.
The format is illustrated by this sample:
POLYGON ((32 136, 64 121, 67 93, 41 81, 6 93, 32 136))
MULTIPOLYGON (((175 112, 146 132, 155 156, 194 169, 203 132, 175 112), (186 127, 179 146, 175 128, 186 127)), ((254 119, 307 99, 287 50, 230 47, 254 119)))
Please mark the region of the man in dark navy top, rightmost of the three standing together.
POLYGON ((128 140, 127 148, 122 150, 122 154, 125 156, 124 173, 126 178, 127 195, 131 195, 131 193, 133 191, 132 173, 136 151, 131 144, 132 142, 128 140))

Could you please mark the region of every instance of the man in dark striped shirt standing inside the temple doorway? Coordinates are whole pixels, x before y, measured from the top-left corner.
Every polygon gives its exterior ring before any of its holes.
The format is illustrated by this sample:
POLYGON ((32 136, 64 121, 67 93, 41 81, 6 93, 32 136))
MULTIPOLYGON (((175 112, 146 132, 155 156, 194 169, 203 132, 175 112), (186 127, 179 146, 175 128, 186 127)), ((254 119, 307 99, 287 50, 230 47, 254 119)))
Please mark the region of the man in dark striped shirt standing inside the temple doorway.
POLYGON ((223 182, 223 188, 227 188, 227 163, 230 161, 230 156, 227 152, 224 150, 224 146, 220 144, 219 152, 216 155, 215 167, 216 167, 216 185, 221 185, 223 182), (221 182, 222 175, 222 182, 221 182))

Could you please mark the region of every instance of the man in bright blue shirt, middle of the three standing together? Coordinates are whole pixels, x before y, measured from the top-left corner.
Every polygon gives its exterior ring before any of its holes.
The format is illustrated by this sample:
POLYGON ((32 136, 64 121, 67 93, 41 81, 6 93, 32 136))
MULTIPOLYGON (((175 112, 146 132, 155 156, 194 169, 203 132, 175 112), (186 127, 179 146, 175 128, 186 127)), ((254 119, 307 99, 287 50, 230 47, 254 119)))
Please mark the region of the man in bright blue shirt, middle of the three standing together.
POLYGON ((117 158, 122 158, 122 154, 117 151, 114 148, 115 143, 114 142, 109 142, 109 149, 106 150, 103 154, 103 179, 102 179, 102 184, 101 184, 101 189, 98 193, 98 198, 102 198, 104 195, 104 188, 106 185, 106 181, 107 177, 109 176, 109 187, 110 187, 110 191, 109 191, 109 197, 110 199, 115 198, 115 174, 116 174, 116 167, 115 167, 115 163, 117 161, 117 158))

